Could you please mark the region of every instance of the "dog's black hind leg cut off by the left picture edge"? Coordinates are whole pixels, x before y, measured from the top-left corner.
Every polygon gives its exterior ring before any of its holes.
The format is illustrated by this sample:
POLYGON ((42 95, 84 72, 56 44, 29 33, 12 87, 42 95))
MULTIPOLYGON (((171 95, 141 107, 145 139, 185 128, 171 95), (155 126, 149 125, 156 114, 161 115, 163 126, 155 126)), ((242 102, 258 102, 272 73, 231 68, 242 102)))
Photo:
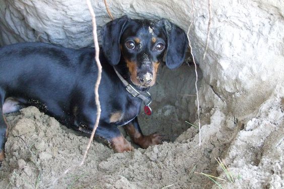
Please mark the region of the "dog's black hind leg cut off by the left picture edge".
POLYGON ((2 107, 4 104, 4 93, 0 91, 0 162, 4 160, 4 147, 8 135, 8 125, 5 121, 2 107))

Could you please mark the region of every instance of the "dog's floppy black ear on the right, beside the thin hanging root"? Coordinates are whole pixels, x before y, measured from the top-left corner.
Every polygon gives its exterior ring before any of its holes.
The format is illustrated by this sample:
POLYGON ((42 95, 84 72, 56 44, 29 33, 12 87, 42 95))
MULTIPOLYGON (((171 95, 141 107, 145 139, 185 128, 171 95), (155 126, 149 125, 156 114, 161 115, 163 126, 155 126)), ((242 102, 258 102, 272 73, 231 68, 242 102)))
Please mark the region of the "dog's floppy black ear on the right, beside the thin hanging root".
POLYGON ((184 61, 185 53, 188 48, 187 36, 180 27, 166 19, 160 20, 158 24, 164 27, 164 31, 167 35, 166 65, 170 69, 175 69, 184 61))

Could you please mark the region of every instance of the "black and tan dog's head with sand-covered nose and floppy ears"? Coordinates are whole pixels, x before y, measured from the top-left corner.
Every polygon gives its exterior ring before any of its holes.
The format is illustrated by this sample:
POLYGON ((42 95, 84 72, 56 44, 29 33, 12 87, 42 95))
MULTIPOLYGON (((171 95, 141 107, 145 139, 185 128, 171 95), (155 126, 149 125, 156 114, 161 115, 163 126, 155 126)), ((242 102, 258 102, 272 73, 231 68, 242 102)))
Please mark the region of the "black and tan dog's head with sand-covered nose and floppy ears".
POLYGON ((137 86, 152 86, 163 59, 170 69, 179 67, 187 50, 184 31, 168 20, 131 20, 127 16, 107 23, 102 31, 102 49, 108 62, 126 63, 137 86))

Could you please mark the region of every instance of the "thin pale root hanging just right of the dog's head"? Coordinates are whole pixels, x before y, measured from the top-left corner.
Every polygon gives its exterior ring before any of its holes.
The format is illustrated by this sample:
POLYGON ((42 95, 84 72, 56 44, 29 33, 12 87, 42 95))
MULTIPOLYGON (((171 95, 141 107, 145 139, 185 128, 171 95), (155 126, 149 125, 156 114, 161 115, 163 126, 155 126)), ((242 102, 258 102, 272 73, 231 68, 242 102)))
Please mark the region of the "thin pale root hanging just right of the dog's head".
POLYGON ((195 89, 196 89, 196 100, 197 100, 197 115, 198 115, 198 129, 199 129, 199 146, 201 146, 201 126, 200 126, 200 113, 199 113, 199 97, 198 97, 198 88, 197 88, 197 81, 198 81, 198 74, 197 74, 197 66, 196 66, 196 63, 195 63, 195 59, 194 59, 194 56, 193 56, 193 53, 192 53, 192 46, 191 46, 191 43, 190 43, 190 40, 189 40, 189 30, 191 28, 191 25, 193 23, 193 11, 194 11, 194 2, 193 0, 191 1, 192 3, 192 11, 191 11, 191 23, 188 27, 188 31, 187 31, 187 39, 188 39, 188 43, 189 43, 189 47, 190 47, 190 54, 192 56, 192 59, 193 59, 193 63, 194 63, 194 67, 195 67, 195 75, 196 75, 196 80, 195 80, 195 89))

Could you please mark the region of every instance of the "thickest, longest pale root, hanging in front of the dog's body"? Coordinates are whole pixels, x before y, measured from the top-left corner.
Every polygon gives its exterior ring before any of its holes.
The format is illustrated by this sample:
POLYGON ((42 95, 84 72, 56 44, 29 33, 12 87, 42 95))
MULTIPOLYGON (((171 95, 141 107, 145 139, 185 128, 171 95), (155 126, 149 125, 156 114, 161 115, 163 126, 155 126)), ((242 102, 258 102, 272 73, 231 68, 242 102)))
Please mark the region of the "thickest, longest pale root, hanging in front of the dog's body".
POLYGON ((66 169, 59 177, 57 177, 53 182, 52 182, 52 185, 54 185, 60 178, 64 177, 70 170, 73 170, 74 168, 78 167, 78 166, 82 166, 85 162, 85 159, 87 157, 87 154, 88 154, 88 151, 89 151, 89 148, 91 146, 91 143, 94 139, 94 135, 95 135, 95 132, 96 132, 96 129, 99 125, 99 120, 100 120, 100 116, 101 116, 101 105, 100 105, 100 101, 99 101, 99 92, 98 92, 98 89, 99 89, 99 85, 100 85, 100 82, 101 82, 101 78, 102 78, 102 65, 101 65, 101 62, 100 62, 100 59, 99 59, 99 43, 98 43, 98 35, 97 35, 97 24, 96 24, 96 15, 95 15, 95 12, 92 8, 92 4, 90 2, 90 0, 86 0, 87 1, 87 5, 88 5, 88 8, 89 8, 89 11, 90 11, 90 14, 92 16, 92 23, 93 23, 93 35, 94 35, 94 45, 95 45, 95 60, 97 62, 97 66, 98 66, 98 78, 97 78, 97 81, 96 81, 96 85, 95 85, 95 101, 96 101, 96 106, 97 106, 97 120, 96 120, 96 123, 94 125, 94 128, 93 128, 93 131, 92 131, 92 134, 91 134, 91 137, 89 139, 89 142, 88 142, 88 145, 86 147, 86 150, 85 150, 85 153, 83 155, 83 158, 82 158, 82 161, 79 165, 74 165, 72 167, 69 167, 68 169, 66 169))

